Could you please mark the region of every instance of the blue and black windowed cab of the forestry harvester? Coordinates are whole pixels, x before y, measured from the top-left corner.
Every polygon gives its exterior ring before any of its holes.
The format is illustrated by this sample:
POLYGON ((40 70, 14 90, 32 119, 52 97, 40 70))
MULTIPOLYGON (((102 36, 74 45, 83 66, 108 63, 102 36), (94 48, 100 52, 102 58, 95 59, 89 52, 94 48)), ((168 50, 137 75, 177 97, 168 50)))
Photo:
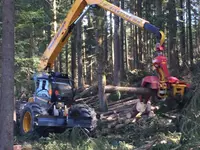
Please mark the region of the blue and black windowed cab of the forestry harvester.
POLYGON ((34 101, 40 104, 73 101, 73 87, 68 75, 60 73, 37 74, 34 76, 34 101))

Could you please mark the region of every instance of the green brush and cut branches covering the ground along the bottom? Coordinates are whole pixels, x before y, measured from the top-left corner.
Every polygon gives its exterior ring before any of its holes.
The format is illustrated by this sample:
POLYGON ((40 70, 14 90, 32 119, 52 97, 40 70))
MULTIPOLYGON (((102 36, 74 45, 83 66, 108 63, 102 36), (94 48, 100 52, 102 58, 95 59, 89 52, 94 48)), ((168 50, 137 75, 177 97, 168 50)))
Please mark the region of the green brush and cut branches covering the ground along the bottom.
POLYGON ((101 126, 94 138, 80 132, 82 129, 74 128, 48 137, 39 138, 36 134, 17 136, 15 144, 31 145, 34 150, 139 150, 150 143, 152 150, 169 150, 179 146, 181 137, 180 133, 175 132, 175 126, 170 120, 159 117, 142 119, 138 123, 110 131, 101 126))

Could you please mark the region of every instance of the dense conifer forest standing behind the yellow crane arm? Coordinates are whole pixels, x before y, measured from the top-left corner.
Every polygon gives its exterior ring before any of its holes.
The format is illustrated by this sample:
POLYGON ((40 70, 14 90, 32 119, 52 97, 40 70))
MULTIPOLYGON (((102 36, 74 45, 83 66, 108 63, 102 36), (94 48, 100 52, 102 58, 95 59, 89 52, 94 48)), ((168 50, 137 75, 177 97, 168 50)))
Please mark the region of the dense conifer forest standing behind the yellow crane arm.
MULTIPOLYGON (((111 2, 166 33, 165 54, 173 75, 192 69, 200 55, 198 0, 111 2)), ((72 4, 73 0, 16 1, 15 93, 31 90, 30 77, 39 58, 72 4)), ((0 35, 0 43, 1 38, 0 35)), ((154 47, 155 37, 151 33, 94 8, 75 28, 56 60, 54 70, 68 73, 78 87, 95 84, 99 70, 106 75, 108 83, 119 85, 123 84, 128 73, 151 70, 154 47)))

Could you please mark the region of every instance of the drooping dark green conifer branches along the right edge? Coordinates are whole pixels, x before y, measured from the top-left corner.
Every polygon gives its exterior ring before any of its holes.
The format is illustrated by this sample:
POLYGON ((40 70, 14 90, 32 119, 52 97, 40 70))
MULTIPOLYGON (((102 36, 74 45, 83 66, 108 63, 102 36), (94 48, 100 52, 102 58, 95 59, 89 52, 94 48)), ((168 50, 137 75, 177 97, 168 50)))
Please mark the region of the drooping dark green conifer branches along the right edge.
POLYGON ((180 114, 181 145, 183 149, 200 149, 200 62, 192 73, 191 99, 180 114))

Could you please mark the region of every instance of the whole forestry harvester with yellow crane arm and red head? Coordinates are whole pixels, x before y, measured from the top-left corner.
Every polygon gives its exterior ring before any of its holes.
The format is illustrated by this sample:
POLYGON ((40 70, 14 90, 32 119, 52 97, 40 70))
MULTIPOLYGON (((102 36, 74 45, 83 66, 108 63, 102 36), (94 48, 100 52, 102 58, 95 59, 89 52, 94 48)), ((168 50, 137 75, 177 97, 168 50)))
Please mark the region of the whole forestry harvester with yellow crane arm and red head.
MULTIPOLYGON (((158 77, 145 77, 142 86, 157 91, 157 96, 161 99, 166 98, 169 91, 173 96, 184 94, 187 84, 171 77, 167 71, 166 58, 162 55, 165 36, 159 28, 106 0, 76 0, 41 57, 38 73, 34 75, 35 93, 33 97, 29 98, 21 112, 21 133, 27 134, 37 129, 51 127, 65 129, 78 126, 87 131, 95 129, 96 113, 87 105, 74 103, 74 88, 68 75, 50 71, 77 22, 91 7, 101 7, 155 34, 157 57, 153 60, 153 64, 158 72, 158 77)), ((149 97, 145 97, 144 100, 144 97, 141 96, 141 101, 148 99, 149 97)))

